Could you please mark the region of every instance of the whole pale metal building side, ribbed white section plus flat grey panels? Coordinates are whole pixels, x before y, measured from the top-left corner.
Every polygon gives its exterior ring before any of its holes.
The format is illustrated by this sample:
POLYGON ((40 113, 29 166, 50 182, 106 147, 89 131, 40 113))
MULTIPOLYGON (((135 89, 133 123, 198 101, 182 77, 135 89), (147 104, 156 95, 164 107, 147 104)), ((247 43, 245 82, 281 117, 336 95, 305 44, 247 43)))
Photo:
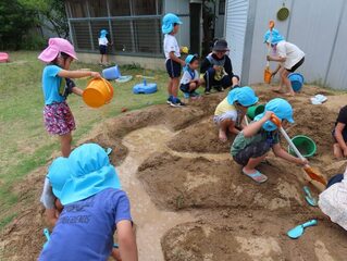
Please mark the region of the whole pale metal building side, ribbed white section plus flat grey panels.
POLYGON ((224 35, 235 73, 241 75, 244 85, 263 82, 263 34, 274 20, 285 39, 306 52, 298 71, 307 83, 347 89, 346 0, 226 0, 225 5, 224 35), (289 16, 278 21, 276 14, 283 4, 289 16))

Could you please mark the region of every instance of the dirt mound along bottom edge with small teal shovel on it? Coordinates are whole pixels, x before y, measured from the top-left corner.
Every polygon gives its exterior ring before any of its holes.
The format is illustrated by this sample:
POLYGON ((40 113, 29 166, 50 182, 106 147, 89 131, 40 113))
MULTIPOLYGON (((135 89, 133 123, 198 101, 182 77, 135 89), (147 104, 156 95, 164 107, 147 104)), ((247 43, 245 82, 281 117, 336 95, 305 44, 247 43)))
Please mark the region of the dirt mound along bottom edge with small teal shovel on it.
POLYGON ((263 211, 238 211, 228 215, 214 213, 209 219, 169 231, 162 239, 165 260, 329 261, 346 258, 347 248, 343 244, 346 234, 326 220, 319 220, 317 227, 307 228, 300 239, 293 240, 286 232, 298 224, 297 220, 302 222, 302 216, 288 219, 263 211), (336 246, 336 243, 340 244, 336 246))

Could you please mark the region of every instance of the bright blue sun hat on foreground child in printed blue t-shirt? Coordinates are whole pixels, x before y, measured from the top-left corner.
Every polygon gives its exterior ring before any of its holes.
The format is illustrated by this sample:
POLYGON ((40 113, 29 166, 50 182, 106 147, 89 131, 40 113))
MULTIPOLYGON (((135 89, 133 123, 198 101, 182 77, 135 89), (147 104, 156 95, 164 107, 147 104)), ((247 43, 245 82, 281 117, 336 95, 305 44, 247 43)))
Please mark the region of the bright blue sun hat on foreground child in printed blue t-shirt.
POLYGON ((107 188, 121 188, 117 173, 99 145, 82 145, 72 151, 69 161, 72 177, 62 189, 62 204, 89 198, 107 188))

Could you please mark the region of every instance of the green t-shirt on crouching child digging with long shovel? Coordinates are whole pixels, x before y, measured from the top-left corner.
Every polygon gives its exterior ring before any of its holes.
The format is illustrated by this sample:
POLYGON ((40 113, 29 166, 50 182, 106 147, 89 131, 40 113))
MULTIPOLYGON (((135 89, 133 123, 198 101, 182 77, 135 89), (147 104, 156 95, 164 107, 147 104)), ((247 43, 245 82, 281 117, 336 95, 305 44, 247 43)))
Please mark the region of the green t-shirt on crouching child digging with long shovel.
POLYGON ((239 151, 245 149, 251 144, 258 144, 260 141, 265 141, 268 139, 272 139, 272 144, 278 144, 280 142, 280 135, 277 130, 274 132, 267 132, 263 128, 261 128, 255 136, 246 138, 244 135, 244 132, 240 132, 231 148, 232 156, 236 156, 239 151))

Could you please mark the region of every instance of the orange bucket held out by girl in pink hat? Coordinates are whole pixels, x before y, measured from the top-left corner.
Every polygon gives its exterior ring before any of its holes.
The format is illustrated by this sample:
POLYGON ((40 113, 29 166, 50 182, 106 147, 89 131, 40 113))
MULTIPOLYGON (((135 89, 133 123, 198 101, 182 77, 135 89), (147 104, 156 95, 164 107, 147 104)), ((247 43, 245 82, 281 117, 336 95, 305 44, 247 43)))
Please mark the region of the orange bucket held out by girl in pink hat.
POLYGON ((83 91, 83 100, 91 108, 109 103, 113 98, 112 85, 103 78, 91 79, 83 91))

